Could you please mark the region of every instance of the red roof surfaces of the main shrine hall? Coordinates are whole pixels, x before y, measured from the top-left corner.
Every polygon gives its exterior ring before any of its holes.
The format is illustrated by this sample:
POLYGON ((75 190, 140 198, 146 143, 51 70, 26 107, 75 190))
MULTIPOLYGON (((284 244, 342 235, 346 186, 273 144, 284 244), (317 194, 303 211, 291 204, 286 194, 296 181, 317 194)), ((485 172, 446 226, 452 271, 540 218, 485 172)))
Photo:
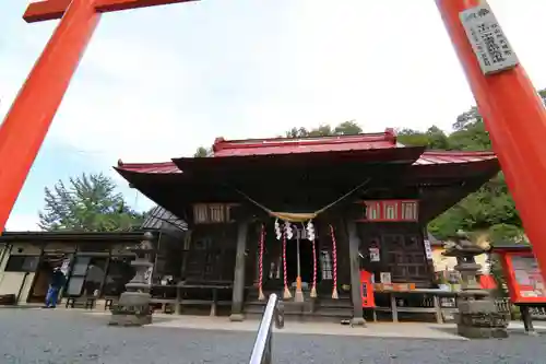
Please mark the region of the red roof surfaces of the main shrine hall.
MULTIPOLYGON (((358 136, 320 137, 320 138, 274 138, 224 140, 216 139, 213 145, 214 157, 241 157, 260 155, 282 155, 293 153, 349 152, 365 150, 403 149, 396 143, 396 136, 392 129, 382 133, 358 136)), ((496 160, 492 152, 459 152, 459 151, 427 151, 413 163, 415 166, 438 164, 464 164, 496 160)), ((218 161, 219 162, 219 161, 218 161)), ((174 162, 165 163, 119 163, 118 171, 142 174, 179 174, 181 171, 174 162)))

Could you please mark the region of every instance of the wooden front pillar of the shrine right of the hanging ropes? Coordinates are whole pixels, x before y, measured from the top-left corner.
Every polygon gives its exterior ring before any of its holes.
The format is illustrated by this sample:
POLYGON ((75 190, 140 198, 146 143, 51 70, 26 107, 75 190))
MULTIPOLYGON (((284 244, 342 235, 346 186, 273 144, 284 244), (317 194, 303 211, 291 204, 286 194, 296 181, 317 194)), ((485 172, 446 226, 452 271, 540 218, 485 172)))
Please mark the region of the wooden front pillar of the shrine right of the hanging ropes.
POLYGON ((351 298, 353 301, 353 318, 351 326, 366 326, 363 312, 363 296, 360 293, 360 266, 358 263, 358 235, 356 223, 347 220, 348 255, 351 265, 351 298))

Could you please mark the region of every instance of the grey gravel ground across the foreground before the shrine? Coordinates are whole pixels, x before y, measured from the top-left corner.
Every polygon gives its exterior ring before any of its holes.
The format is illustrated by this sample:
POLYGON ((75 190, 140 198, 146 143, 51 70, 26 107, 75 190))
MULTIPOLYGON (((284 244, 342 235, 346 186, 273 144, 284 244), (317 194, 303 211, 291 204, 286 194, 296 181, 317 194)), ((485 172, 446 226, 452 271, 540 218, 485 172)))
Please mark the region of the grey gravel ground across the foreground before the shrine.
MULTIPOLYGON (((254 333, 107 327, 106 316, 0 309, 1 364, 248 363, 254 333)), ((546 363, 546 337, 434 341, 361 337, 274 338, 274 363, 546 363)))

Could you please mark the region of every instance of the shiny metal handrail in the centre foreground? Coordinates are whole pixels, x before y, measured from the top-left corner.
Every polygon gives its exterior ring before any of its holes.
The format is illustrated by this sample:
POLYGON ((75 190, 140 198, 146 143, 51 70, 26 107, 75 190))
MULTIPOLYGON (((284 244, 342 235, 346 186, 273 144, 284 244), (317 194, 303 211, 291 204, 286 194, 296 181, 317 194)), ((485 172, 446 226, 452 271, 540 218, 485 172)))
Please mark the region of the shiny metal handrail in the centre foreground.
POLYGON ((258 336, 256 337, 252 355, 250 355, 249 364, 271 364, 272 339, 273 339, 273 321, 275 327, 282 329, 284 327, 284 309, 282 301, 278 301, 276 294, 271 294, 263 313, 258 336))

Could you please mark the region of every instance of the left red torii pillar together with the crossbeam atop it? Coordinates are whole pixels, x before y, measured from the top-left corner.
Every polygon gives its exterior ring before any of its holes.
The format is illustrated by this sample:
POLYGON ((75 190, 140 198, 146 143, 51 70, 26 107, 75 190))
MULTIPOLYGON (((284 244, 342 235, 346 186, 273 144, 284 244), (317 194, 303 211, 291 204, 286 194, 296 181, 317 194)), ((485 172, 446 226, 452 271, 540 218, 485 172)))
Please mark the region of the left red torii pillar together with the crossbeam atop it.
POLYGON ((0 233, 100 13, 188 1, 195 0, 45 0, 28 5, 23 19, 29 23, 62 20, 0 126, 0 233))

